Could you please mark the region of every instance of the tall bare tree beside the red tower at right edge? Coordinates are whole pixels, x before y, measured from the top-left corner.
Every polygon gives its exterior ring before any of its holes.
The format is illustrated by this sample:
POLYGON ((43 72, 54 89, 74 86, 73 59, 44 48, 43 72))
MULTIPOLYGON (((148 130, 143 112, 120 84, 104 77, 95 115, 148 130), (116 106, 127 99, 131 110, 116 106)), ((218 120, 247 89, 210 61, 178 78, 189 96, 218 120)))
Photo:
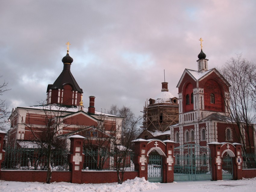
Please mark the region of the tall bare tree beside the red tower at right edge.
POLYGON ((243 144, 243 152, 247 148, 253 153, 251 134, 255 132, 252 125, 255 122, 255 84, 256 84, 256 65, 253 62, 242 58, 242 54, 237 54, 219 69, 223 77, 231 84, 229 87, 230 103, 225 103, 230 111, 233 129, 237 138, 243 144), (245 140, 248 140, 248 143, 245 140))

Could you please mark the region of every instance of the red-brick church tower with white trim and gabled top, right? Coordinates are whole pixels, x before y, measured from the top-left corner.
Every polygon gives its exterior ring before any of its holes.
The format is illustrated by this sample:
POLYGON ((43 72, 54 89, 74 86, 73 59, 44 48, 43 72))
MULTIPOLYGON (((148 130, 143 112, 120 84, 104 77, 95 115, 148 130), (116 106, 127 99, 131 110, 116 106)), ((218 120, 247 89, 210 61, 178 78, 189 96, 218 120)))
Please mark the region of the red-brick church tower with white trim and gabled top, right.
MULTIPOLYGON (((202 49, 197 63, 198 70, 185 69, 177 85, 179 123, 170 126, 170 139, 176 142, 175 147, 190 143, 200 146, 211 142, 243 143, 243 140, 248 150, 248 139, 239 137, 238 127, 230 118, 229 82, 215 68, 208 70, 208 59, 202 49)), ((255 153, 253 130, 251 137, 255 153)))

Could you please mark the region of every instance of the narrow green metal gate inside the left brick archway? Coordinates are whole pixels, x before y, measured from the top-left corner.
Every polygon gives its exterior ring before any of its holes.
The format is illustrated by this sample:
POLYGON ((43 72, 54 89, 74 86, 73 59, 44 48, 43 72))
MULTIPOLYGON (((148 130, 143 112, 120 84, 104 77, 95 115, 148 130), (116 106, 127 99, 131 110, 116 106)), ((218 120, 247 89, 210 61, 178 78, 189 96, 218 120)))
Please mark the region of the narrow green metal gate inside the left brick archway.
POLYGON ((148 181, 162 182, 162 157, 160 155, 148 156, 148 181))

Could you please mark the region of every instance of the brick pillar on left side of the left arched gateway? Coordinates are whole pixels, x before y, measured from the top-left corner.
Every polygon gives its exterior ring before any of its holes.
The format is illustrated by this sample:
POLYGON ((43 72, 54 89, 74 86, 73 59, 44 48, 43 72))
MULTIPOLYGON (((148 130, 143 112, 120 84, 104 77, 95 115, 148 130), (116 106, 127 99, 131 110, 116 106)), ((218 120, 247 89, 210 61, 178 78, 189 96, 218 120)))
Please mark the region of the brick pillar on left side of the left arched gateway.
POLYGON ((134 169, 139 171, 139 177, 145 177, 148 180, 148 157, 147 157, 147 143, 145 139, 136 139, 134 142, 134 169))

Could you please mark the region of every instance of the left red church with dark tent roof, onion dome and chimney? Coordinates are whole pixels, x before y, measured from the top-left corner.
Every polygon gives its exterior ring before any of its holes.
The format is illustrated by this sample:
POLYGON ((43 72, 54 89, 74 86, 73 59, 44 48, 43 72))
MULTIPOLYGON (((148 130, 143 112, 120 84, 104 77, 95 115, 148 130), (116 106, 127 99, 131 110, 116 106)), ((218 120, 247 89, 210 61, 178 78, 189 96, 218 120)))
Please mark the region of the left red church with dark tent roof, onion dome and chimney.
POLYGON ((18 143, 24 147, 26 144, 30 145, 30 141, 43 140, 47 129, 56 123, 58 128, 55 137, 59 138, 65 138, 65 135, 83 135, 96 142, 100 135, 121 137, 122 117, 95 111, 94 96, 89 96, 88 108, 83 106, 83 90, 70 71, 73 58, 69 56, 69 50, 62 62, 61 74, 47 87, 45 103, 12 110, 9 117, 9 144, 18 143))

